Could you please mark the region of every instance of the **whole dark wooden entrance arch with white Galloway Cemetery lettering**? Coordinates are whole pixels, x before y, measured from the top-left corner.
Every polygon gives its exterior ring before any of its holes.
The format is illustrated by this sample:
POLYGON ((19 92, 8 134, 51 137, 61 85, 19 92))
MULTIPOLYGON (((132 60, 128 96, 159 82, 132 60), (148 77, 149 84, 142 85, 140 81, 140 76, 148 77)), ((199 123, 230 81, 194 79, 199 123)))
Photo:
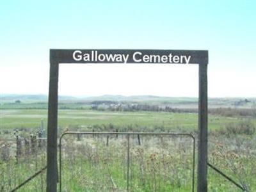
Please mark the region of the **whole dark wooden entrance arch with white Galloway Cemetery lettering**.
POLYGON ((47 192, 57 191, 58 77, 60 63, 198 64, 197 191, 207 192, 207 65, 208 51, 140 49, 51 49, 47 127, 47 192))

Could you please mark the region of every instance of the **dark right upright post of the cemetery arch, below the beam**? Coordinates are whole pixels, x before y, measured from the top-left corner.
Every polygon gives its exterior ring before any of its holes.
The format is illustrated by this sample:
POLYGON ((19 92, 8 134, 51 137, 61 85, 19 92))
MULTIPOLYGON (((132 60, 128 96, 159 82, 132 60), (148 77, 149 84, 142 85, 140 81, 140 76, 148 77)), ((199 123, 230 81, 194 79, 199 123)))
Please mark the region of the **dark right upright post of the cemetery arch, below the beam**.
POLYGON ((207 63, 199 63, 197 191, 207 192, 207 63))

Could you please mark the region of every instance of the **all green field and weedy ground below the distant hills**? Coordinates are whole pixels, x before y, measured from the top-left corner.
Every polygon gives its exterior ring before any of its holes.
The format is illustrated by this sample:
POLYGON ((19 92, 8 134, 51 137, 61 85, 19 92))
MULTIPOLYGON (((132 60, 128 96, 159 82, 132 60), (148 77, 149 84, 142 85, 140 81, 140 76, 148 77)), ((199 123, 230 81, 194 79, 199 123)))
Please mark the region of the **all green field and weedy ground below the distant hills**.
MULTIPOLYGON (((97 103, 97 108, 95 103, 61 104, 59 134, 94 130, 189 132, 197 136, 196 109, 170 110, 163 108, 163 103, 158 109, 145 104, 135 108, 129 103, 127 108, 124 104, 97 103)), ((40 131, 40 137, 45 137, 40 124, 43 120, 45 129, 47 105, 8 103, 0 107, 0 191, 10 191, 46 164, 45 140, 35 139, 35 136, 40 131)), ((256 191, 256 118, 253 110, 209 110, 209 163, 246 191, 256 191)), ((128 158, 126 136, 65 136, 61 150, 62 191, 127 191, 128 159, 129 191, 191 191, 191 138, 141 136, 139 141, 137 136, 132 136, 129 142, 128 158)), ((44 171, 18 191, 45 191, 45 177, 44 171)), ((209 168, 209 191, 241 189, 209 168)))

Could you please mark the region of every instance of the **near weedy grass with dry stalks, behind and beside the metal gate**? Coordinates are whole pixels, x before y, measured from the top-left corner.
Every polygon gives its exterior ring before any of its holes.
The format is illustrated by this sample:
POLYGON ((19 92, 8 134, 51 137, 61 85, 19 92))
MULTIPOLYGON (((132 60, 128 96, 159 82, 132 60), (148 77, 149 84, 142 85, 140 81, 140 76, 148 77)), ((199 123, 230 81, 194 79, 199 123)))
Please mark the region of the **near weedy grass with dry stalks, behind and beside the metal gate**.
MULTIPOLYGON (((209 162, 248 191, 255 191, 255 137, 211 136, 209 162), (246 140, 245 140, 246 139, 246 140), (244 141, 243 141, 244 140, 244 141), (241 142, 243 141, 243 142, 241 142), (240 143, 240 145, 237 145, 240 143)), ((127 138, 65 136, 62 143, 62 191, 126 191, 127 138)), ((192 147, 188 138, 130 140, 129 191, 191 191, 192 147)), ((45 165, 45 154, 22 155, 18 163, 0 161, 0 186, 10 191, 45 165), (2 186, 2 187, 3 187, 2 186)), ((209 191, 239 192, 209 168, 209 191)), ((45 173, 19 191, 44 191, 45 173)))

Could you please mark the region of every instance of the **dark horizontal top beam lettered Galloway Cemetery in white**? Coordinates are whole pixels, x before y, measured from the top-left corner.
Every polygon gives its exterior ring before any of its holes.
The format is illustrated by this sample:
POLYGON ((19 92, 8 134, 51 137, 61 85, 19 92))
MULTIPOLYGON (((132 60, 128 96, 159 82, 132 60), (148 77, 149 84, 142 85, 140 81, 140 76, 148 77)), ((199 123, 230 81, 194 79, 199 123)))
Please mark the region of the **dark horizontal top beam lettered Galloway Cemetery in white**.
POLYGON ((208 51, 130 49, 51 49, 51 63, 208 63, 208 51))

